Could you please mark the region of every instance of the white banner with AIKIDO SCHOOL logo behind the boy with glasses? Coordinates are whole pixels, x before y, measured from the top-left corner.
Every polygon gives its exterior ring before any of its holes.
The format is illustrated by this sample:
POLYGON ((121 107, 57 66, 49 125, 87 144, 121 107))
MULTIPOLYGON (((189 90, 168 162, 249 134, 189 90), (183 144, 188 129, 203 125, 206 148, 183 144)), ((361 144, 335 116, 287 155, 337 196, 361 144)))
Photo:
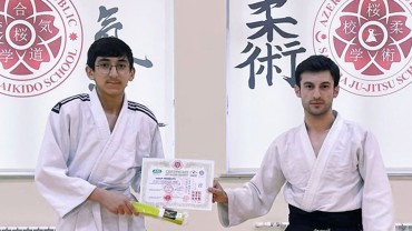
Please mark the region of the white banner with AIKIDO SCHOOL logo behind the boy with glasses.
POLYGON ((173 153, 173 1, 10 0, 0 2, 0 169, 32 171, 46 120, 60 100, 89 91, 86 58, 101 37, 134 51, 130 100, 150 108, 173 153))

